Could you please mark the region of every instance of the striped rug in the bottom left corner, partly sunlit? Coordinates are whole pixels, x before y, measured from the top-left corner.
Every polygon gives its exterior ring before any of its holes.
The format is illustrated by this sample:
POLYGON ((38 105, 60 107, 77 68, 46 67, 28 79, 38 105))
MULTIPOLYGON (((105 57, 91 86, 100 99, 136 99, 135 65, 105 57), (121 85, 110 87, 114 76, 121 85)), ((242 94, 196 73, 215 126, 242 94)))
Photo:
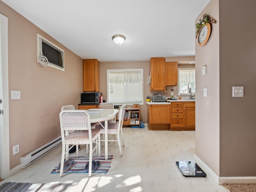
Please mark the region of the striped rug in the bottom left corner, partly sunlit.
POLYGON ((16 183, 6 182, 0 185, 3 192, 71 192, 71 183, 16 183))

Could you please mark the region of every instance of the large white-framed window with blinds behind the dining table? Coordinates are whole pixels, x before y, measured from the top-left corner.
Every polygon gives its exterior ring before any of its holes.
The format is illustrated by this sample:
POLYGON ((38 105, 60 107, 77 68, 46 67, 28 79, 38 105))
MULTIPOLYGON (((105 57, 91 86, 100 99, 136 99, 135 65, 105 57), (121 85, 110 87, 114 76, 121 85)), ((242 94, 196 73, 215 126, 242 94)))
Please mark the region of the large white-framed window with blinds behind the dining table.
POLYGON ((143 104, 143 69, 107 70, 107 101, 143 104))

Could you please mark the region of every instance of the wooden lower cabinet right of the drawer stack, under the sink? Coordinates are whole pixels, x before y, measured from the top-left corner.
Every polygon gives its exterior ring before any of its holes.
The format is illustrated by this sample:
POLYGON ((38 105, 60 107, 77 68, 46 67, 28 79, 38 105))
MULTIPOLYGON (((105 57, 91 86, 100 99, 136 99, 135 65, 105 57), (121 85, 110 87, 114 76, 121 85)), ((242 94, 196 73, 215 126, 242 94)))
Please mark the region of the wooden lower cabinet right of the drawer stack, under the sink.
POLYGON ((195 102, 184 102, 184 103, 185 103, 184 126, 195 127, 196 126, 195 102))

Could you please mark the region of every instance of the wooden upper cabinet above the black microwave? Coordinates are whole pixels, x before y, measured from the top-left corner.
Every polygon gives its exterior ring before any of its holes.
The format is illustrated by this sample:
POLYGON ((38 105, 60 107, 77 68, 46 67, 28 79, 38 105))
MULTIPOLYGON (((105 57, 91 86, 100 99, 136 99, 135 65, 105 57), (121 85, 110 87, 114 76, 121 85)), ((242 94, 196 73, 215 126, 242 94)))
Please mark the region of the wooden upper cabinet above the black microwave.
POLYGON ((84 92, 100 92, 100 62, 85 59, 83 64, 84 92))

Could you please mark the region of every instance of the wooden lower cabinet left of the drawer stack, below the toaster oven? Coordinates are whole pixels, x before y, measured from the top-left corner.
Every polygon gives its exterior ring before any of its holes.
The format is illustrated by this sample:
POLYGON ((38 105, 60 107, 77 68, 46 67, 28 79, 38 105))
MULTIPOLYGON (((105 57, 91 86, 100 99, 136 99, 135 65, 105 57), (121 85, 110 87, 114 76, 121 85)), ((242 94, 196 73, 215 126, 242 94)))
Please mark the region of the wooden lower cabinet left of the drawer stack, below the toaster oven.
POLYGON ((169 130, 170 104, 148 105, 148 120, 149 130, 169 130))

